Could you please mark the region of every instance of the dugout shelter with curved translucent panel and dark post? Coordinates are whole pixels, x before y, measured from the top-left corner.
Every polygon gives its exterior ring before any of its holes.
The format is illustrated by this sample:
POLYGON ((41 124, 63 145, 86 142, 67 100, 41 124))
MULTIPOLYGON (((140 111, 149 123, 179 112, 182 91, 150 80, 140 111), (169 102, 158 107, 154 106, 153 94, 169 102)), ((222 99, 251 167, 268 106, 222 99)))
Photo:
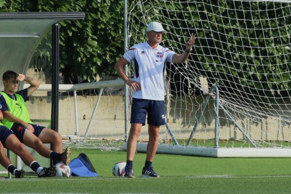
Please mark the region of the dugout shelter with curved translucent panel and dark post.
MULTIPOLYGON (((2 77, 6 70, 14 70, 25 75, 32 64, 38 65, 36 72, 38 69, 42 69, 39 71, 40 74, 44 73, 43 70, 46 67, 49 67, 47 73, 51 74, 52 85, 51 128, 57 131, 60 37, 58 23, 63 20, 83 19, 84 17, 83 12, 0 13, 0 75, 2 77), (35 57, 36 51, 42 53, 42 56, 35 57)), ((18 89, 22 89, 23 82, 19 83, 18 87, 18 89)), ((3 90, 2 83, 0 90, 3 90)), ((21 160, 14 159, 14 157, 11 157, 11 160, 17 164, 18 168, 23 167, 21 160)), ((40 164, 48 166, 46 163, 48 161, 43 160, 38 161, 40 164)), ((0 171, 3 170, 6 169, 0 167, 0 171)))

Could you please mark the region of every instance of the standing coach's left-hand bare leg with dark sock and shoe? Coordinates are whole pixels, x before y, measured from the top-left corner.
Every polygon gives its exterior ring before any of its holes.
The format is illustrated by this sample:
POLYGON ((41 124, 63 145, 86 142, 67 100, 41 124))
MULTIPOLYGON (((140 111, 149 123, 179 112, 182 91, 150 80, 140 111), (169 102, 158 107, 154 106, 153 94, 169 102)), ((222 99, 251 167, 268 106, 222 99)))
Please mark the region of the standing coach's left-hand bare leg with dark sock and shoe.
POLYGON ((129 138, 127 142, 127 165, 125 167, 124 177, 134 178, 132 170, 132 161, 134 159, 136 143, 141 134, 142 126, 143 125, 139 123, 131 123, 131 127, 129 130, 129 138))

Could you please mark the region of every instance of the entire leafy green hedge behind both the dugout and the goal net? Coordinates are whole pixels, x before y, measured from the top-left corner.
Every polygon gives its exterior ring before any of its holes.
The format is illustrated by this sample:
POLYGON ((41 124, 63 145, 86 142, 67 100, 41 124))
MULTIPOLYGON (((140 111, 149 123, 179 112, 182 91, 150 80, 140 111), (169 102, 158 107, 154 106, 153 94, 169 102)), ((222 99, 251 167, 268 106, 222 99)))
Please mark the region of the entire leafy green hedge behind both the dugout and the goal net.
MULTIPOLYGON (((133 2, 128 1, 129 11, 136 6, 133 2)), ((143 12, 135 11, 130 19, 136 25, 144 25, 147 23, 146 13, 151 20, 163 20, 180 28, 193 27, 194 33, 202 37, 195 43, 194 66, 203 69, 199 74, 208 77, 211 83, 266 90, 291 88, 288 67, 291 53, 290 5, 271 1, 195 2, 143 1, 143 12), (173 9, 195 12, 166 11, 173 9), (253 10, 253 14, 248 10, 253 10), (289 17, 284 17, 286 15, 289 17)), ((124 52, 123 0, 0 0, 0 11, 85 12, 83 21, 60 23, 61 71, 67 78, 66 82, 73 75, 80 75, 82 81, 93 81, 97 73, 101 76, 116 75, 113 65, 124 52)), ((174 37, 173 41, 183 43, 179 37, 189 35, 189 32, 181 30, 176 32, 177 40, 174 37)), ((140 32, 136 37, 140 41, 146 38, 140 32)), ((184 46, 180 47, 183 49, 184 46)), ((73 82, 78 81, 75 79, 73 82)))

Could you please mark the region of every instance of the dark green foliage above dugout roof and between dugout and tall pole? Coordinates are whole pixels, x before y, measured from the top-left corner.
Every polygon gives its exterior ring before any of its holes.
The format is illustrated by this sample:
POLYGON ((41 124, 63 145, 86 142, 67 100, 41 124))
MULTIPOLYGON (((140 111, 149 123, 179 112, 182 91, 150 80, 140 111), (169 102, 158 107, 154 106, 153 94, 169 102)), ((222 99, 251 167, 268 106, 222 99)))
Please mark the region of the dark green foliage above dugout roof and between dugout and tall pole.
POLYGON ((60 22, 60 70, 65 83, 115 74, 123 53, 122 0, 0 0, 0 12, 85 12, 84 20, 60 22))

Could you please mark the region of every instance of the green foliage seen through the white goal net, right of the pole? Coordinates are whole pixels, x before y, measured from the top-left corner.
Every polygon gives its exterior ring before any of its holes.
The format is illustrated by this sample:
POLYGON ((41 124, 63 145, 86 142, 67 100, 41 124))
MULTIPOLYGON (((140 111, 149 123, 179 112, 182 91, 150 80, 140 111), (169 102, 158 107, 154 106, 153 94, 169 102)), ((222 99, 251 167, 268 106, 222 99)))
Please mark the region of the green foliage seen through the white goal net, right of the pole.
POLYGON ((188 68, 193 67, 192 72, 198 71, 210 83, 238 91, 264 90, 265 95, 272 95, 272 90, 281 90, 282 95, 291 89, 290 4, 248 0, 136 2, 134 6, 141 10, 131 16, 132 25, 148 23, 149 19, 170 24, 165 25, 173 34, 164 43, 167 47, 179 42, 182 44, 174 47, 183 50, 182 37, 189 36, 187 29, 197 35, 191 55, 195 64, 188 68))

